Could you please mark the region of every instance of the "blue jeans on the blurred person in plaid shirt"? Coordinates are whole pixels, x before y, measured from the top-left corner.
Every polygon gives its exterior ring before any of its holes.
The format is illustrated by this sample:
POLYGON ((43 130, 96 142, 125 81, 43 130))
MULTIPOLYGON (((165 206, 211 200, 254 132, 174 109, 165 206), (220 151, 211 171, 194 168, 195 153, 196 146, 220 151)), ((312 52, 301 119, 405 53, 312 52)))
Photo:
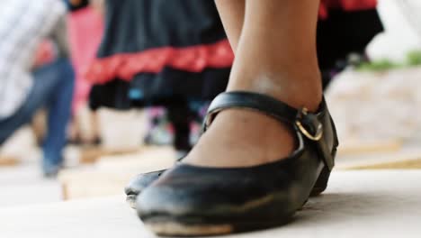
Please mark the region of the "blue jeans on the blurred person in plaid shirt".
POLYGON ((49 114, 48 131, 42 147, 43 169, 57 169, 63 162, 62 151, 67 141, 75 73, 68 59, 57 59, 37 69, 33 77, 34 85, 20 109, 0 120, 0 144, 22 125, 30 123, 37 110, 45 107, 49 114))

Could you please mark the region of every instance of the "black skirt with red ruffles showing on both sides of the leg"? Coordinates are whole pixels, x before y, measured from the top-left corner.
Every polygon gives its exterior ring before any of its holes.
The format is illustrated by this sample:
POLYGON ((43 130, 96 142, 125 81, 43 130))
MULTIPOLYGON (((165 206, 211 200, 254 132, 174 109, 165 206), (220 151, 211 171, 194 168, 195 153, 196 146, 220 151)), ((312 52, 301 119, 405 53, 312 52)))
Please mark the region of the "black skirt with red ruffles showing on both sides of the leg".
MULTIPOLYGON (((374 6, 373 0, 323 0, 322 70, 363 51, 382 31, 374 6)), ((234 54, 213 1, 107 0, 105 25, 98 58, 86 74, 95 83, 92 108, 211 100, 224 91, 234 54)))

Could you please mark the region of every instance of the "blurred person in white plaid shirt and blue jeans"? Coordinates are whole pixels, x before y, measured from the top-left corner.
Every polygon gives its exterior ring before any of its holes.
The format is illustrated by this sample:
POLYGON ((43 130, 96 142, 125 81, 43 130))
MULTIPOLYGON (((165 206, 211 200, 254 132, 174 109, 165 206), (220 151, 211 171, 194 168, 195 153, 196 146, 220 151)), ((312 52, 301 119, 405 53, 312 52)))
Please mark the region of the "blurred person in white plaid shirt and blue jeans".
POLYGON ((61 0, 4 0, 0 9, 0 145, 45 106, 49 112, 42 147, 46 177, 57 175, 63 164, 73 97, 66 12, 61 0), (47 39, 54 43, 57 57, 31 73, 36 50, 47 39))

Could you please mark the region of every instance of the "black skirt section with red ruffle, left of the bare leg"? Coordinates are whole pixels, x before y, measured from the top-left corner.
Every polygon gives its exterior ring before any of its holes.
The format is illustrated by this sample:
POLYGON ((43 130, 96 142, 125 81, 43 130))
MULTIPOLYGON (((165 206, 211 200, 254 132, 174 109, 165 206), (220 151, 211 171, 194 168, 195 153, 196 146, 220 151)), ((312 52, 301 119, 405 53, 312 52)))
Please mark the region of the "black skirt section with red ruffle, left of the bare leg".
MULTIPOLYGON (((153 64, 161 54, 166 57, 166 63, 161 62, 158 68, 152 69, 129 69, 130 72, 124 72, 129 67, 123 66, 113 73, 105 73, 106 82, 92 89, 91 107, 127 109, 166 105, 175 98, 211 100, 225 89, 233 54, 213 1, 108 0, 106 6, 99 62, 129 55, 121 59, 124 66, 153 64), (221 50, 220 45, 225 50, 225 55, 220 56, 225 63, 215 65, 211 61, 217 60, 215 54, 221 50), (168 50, 182 52, 168 54, 168 50), (154 53, 149 55, 149 51, 154 53), (181 62, 185 52, 190 54, 187 65, 181 62), (208 63, 199 68, 190 67, 202 61, 208 63), (119 82, 115 83, 116 80, 119 82)), ((110 68, 106 64, 103 67, 110 68)))

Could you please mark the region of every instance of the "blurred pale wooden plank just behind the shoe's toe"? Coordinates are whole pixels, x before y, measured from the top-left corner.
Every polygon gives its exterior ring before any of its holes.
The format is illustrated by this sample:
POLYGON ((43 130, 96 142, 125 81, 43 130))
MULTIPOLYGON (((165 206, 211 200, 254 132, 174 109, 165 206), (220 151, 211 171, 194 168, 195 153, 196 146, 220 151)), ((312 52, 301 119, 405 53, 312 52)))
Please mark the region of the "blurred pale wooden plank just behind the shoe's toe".
POLYGON ((94 167, 66 169, 58 180, 65 199, 119 195, 139 173, 167 169, 174 165, 172 148, 148 148, 138 153, 106 156, 94 167))

